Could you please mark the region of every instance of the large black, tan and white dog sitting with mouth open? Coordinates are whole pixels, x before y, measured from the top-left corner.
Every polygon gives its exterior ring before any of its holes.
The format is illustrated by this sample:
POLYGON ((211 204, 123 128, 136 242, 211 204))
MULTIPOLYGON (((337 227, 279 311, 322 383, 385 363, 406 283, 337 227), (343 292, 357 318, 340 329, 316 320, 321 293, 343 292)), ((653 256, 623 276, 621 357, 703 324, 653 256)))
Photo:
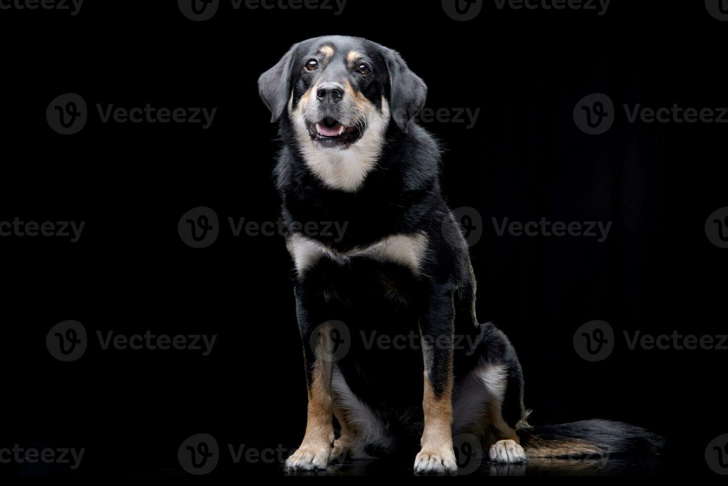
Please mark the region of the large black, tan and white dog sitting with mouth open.
POLYGON ((419 439, 414 472, 453 474, 457 434, 477 437, 497 463, 660 449, 660 437, 608 420, 529 426, 513 345, 475 315, 440 147, 413 120, 427 86, 398 52, 357 37, 308 39, 258 90, 282 142, 274 176, 308 391, 304 439, 286 468, 327 469, 419 439), (312 234, 304 222, 347 222, 347 231, 312 234), (371 345, 378 332, 414 332, 420 345, 371 345), (345 356, 333 342, 343 334, 345 356))

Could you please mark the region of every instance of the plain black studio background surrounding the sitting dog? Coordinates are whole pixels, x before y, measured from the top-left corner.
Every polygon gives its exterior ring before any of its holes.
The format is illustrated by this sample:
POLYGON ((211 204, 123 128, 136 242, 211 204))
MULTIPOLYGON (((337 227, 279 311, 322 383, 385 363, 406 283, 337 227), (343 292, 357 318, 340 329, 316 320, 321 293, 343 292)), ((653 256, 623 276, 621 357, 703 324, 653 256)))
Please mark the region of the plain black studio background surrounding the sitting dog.
MULTIPOLYGON (((480 108, 467 123, 430 122, 442 142, 451 208, 483 218, 472 246, 478 314, 509 335, 534 423, 610 418, 665 436, 655 474, 713 474, 708 442, 728 432, 725 350, 630 350, 622 335, 726 334, 726 251, 704 224, 724 207, 720 124, 628 123, 622 103, 728 106, 728 22, 703 1, 614 0, 583 10, 499 10, 451 20, 439 1, 349 0, 332 11, 232 9, 192 22, 176 2, 84 2, 79 15, 0 10, 3 175, 0 221, 86 222, 82 238, 0 238, 3 256, 2 444, 85 447, 82 467, 23 474, 184 474, 192 434, 221 444, 295 447, 306 393, 292 266, 280 237, 234 237, 227 219, 275 221, 276 128, 256 80, 290 44, 364 36, 399 50, 430 88, 432 109, 480 108), (79 93, 90 110, 73 136, 45 110, 79 93), (611 130, 588 136, 574 105, 606 93, 611 130), (101 123, 96 103, 218 108, 213 125, 101 123), (221 235, 186 246, 183 213, 213 208, 221 235), (491 217, 612 222, 596 238, 498 237, 491 217), (56 361, 60 321, 92 335, 56 361), (587 321, 609 322, 612 356, 572 345, 587 321), (194 351, 100 350, 95 332, 218 334, 194 351)), ((402 363, 402 367, 411 366, 402 363)), ((396 372, 394 370, 393 372, 396 372)), ((224 456, 223 456, 224 457, 224 456)), ((390 472, 411 474, 412 459, 390 472)), ((14 465, 1 471, 16 474, 14 465)), ((630 469, 625 472, 629 474, 630 469)), ((280 464, 221 460, 216 474, 280 474, 280 464)))

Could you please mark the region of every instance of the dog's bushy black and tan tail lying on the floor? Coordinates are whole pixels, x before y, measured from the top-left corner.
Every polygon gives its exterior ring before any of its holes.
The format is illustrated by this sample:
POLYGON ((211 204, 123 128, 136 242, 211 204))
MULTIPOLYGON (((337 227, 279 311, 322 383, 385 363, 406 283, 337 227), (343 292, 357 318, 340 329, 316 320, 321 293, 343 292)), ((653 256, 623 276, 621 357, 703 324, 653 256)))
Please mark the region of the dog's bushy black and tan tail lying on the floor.
POLYGON ((524 428, 519 435, 529 458, 656 455, 665 445, 644 428, 600 419, 524 428))

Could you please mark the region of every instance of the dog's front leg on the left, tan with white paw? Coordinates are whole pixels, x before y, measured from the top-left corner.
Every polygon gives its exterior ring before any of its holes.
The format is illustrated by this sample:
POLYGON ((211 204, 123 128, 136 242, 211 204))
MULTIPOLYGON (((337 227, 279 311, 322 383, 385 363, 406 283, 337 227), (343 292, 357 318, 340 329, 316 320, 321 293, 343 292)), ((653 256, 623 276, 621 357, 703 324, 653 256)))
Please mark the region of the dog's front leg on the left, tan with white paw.
POLYGON ((310 329, 308 313, 298 302, 298 325, 304 343, 304 364, 309 407, 306 434, 296 452, 285 461, 289 469, 312 471, 326 469, 333 447, 333 405, 331 376, 333 369, 333 345, 331 328, 322 324, 310 329), (312 332, 316 334, 312 337, 312 332))

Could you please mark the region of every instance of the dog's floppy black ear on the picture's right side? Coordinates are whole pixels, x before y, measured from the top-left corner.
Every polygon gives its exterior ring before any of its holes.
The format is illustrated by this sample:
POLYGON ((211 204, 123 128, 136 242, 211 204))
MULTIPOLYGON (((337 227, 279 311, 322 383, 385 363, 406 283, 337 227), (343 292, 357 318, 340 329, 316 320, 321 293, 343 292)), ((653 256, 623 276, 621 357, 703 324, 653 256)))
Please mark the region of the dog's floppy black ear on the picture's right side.
POLYGON ((400 130, 407 133, 411 119, 424 108, 427 85, 422 78, 412 72, 397 51, 387 52, 387 68, 389 68, 389 110, 400 130))

